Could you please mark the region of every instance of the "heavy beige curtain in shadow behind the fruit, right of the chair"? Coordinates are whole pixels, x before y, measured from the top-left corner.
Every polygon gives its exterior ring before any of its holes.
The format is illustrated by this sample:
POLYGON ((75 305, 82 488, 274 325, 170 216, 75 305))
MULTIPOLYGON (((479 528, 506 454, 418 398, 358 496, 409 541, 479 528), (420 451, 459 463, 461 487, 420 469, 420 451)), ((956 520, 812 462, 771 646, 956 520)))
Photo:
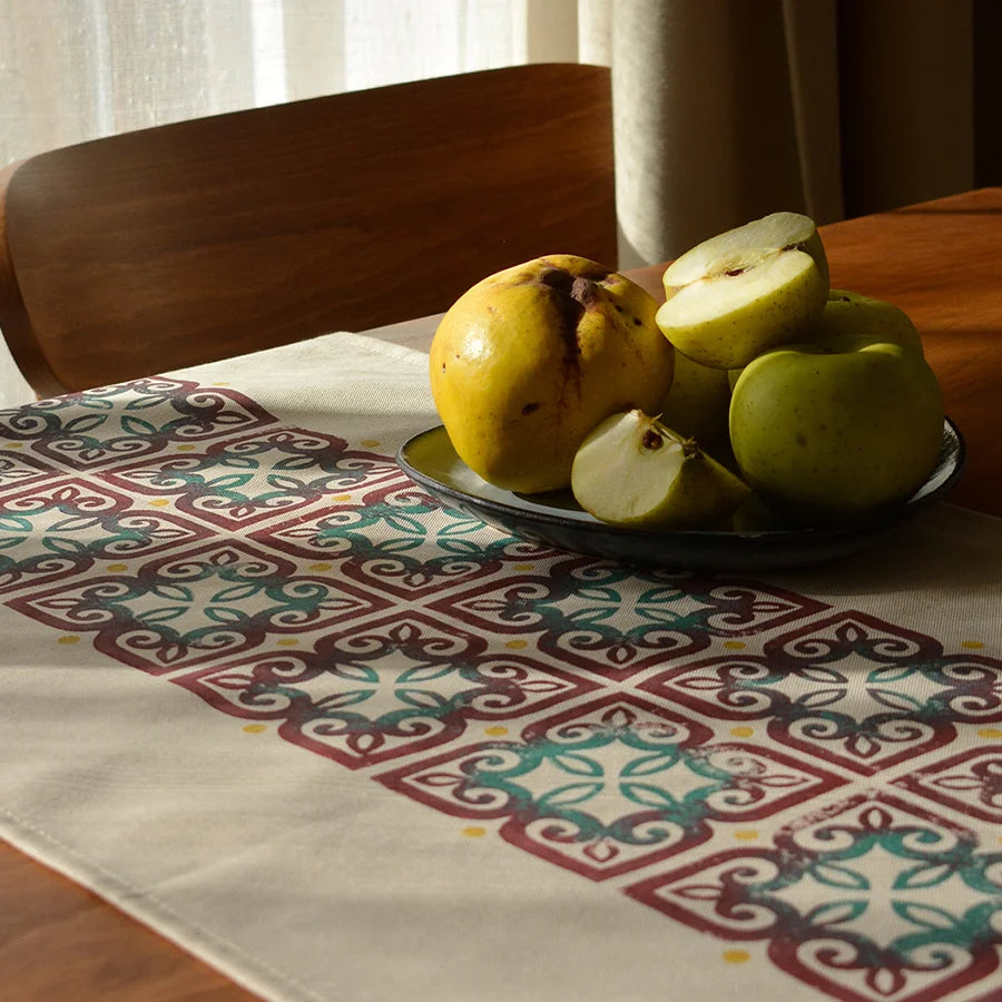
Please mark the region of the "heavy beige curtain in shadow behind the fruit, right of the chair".
POLYGON ((973 185, 971 0, 616 0, 623 266, 973 185))

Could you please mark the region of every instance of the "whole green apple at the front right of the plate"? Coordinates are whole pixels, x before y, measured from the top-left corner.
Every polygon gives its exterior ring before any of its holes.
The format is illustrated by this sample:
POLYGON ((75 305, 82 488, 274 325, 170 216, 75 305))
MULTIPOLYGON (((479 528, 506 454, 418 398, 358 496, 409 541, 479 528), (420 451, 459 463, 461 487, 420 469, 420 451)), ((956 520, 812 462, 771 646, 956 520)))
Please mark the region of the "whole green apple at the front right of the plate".
POLYGON ((750 362, 730 400, 741 475, 800 523, 865 520, 906 500, 935 466, 940 386, 901 344, 833 335, 750 362))

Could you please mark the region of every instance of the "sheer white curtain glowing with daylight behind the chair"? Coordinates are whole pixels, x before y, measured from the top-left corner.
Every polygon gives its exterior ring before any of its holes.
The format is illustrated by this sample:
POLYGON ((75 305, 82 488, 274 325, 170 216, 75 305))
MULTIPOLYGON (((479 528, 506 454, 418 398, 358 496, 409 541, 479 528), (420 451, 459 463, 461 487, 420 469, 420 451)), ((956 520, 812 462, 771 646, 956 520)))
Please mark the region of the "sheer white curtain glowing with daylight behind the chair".
POLYGON ((608 61, 608 0, 0 0, 0 165, 468 70, 608 61))

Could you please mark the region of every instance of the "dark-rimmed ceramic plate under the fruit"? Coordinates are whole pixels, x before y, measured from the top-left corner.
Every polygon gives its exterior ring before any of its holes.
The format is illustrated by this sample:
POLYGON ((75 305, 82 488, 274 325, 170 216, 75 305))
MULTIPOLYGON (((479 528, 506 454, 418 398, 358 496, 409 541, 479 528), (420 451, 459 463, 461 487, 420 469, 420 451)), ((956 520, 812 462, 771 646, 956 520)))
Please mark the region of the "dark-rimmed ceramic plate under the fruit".
POLYGON ((465 511, 521 539, 627 563, 682 570, 776 570, 823 563, 865 549, 942 498, 964 466, 964 442, 949 419, 935 470, 904 504, 853 528, 796 527, 730 531, 651 531, 608 525, 567 493, 514 494, 478 477, 439 425, 397 453, 401 469, 448 508, 465 511))

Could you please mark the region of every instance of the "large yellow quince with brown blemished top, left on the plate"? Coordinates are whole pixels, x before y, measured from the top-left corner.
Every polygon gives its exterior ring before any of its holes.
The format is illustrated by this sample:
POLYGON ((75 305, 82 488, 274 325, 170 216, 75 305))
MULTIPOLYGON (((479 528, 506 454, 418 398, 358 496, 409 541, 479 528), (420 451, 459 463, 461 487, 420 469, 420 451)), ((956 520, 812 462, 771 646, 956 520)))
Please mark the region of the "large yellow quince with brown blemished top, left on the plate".
POLYGON ((445 313, 429 363, 460 459, 505 490, 569 487, 574 453, 596 424, 665 399, 675 350, 656 313, 645 288, 573 255, 479 282, 445 313))

